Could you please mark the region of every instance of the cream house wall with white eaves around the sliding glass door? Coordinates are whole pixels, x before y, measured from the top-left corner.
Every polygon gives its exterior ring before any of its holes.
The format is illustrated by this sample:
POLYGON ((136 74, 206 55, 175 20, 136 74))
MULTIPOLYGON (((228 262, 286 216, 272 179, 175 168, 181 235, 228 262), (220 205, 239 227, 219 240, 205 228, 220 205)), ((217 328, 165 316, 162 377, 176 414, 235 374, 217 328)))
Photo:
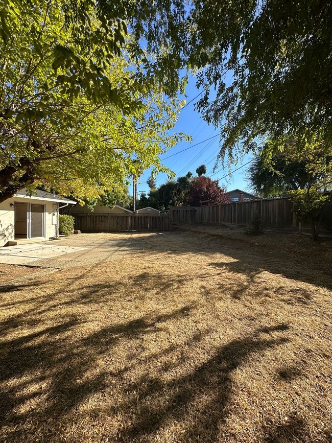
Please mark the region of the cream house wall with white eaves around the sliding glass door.
POLYGON ((45 240, 53 238, 57 232, 57 211, 53 205, 58 203, 52 201, 35 200, 31 198, 12 197, 0 203, 0 247, 15 240, 15 207, 10 207, 11 203, 36 203, 45 205, 45 240))

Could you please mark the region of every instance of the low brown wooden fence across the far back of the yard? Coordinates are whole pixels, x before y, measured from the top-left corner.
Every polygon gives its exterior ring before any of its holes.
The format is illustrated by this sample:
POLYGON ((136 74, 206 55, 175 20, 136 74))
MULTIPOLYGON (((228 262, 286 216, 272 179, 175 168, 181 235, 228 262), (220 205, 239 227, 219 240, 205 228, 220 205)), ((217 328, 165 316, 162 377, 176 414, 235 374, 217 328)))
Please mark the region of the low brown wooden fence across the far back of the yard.
POLYGON ((75 229, 82 232, 121 232, 121 231, 168 231, 170 216, 168 215, 123 215, 70 213, 75 217, 75 229))

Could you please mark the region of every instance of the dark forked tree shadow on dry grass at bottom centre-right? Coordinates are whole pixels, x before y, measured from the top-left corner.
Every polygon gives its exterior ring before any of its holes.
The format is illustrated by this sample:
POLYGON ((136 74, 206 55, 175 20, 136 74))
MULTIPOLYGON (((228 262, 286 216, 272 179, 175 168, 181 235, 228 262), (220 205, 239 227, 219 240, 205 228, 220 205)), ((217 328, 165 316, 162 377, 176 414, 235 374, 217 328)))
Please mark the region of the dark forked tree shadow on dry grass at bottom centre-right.
MULTIPOLYGON (((122 430, 120 438, 128 442, 144 441, 172 421, 185 424, 181 441, 218 441, 220 425, 228 414, 232 372, 244 365, 251 354, 287 341, 283 337, 258 339, 254 334, 249 335, 221 346, 188 375, 164 383, 149 377, 139 379, 129 387, 138 393, 140 401, 135 420, 122 430)), ((126 408, 132 409, 128 403, 126 408)))

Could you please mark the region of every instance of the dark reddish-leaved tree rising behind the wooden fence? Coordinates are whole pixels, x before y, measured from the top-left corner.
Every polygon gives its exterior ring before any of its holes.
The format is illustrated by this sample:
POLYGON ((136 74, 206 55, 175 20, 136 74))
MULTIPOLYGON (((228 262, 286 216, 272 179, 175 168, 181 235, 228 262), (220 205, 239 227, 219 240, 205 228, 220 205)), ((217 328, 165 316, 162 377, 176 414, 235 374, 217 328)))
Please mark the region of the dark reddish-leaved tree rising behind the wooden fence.
POLYGON ((218 181, 212 181, 209 177, 194 178, 188 192, 188 203, 191 206, 199 206, 201 201, 209 200, 209 204, 217 205, 228 203, 228 196, 220 188, 218 181))

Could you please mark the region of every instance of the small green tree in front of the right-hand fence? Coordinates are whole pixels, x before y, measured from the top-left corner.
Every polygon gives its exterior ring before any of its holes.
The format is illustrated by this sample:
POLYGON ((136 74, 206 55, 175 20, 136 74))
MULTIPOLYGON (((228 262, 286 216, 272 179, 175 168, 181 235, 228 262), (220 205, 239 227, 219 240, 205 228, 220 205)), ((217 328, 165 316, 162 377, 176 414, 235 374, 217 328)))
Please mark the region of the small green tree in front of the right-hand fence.
POLYGON ((320 217, 327 200, 328 195, 323 195, 311 188, 310 190, 299 189, 290 192, 293 197, 293 213, 296 220, 300 223, 309 223, 311 229, 311 238, 318 239, 320 217))

